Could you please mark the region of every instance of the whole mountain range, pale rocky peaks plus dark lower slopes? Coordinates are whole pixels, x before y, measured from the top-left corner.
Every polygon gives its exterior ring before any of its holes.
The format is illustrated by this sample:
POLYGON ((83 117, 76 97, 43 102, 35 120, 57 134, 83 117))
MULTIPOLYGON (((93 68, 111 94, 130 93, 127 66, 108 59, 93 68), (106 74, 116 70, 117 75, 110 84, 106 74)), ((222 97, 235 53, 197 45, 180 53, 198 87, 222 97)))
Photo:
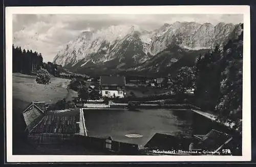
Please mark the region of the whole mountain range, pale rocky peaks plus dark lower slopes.
POLYGON ((112 25, 82 32, 58 51, 53 63, 88 74, 172 73, 193 66, 200 54, 237 38, 239 25, 177 21, 151 32, 138 25, 112 25))

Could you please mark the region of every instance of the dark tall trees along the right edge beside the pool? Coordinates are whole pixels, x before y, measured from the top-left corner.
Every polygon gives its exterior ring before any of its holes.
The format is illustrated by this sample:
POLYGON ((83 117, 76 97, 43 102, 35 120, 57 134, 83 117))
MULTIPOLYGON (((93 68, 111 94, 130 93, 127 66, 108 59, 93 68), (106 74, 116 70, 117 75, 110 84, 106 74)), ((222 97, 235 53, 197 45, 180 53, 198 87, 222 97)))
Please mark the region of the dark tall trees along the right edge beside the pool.
MULTIPOLYGON (((243 24, 241 25, 243 29, 243 24)), ((196 64, 196 104, 214 110, 222 122, 241 130, 243 31, 220 49, 199 57, 196 64)))

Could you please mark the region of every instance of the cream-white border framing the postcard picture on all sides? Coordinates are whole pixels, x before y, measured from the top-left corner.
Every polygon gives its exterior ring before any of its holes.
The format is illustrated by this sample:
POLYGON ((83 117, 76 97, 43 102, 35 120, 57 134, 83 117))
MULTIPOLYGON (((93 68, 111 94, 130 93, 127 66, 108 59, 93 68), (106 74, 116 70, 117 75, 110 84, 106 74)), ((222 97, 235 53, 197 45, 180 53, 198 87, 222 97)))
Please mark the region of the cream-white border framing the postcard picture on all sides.
POLYGON ((250 7, 249 6, 94 6, 6 7, 6 137, 7 162, 129 162, 129 161, 250 161, 250 7), (243 14, 243 132, 242 156, 95 156, 12 155, 12 14, 243 14))

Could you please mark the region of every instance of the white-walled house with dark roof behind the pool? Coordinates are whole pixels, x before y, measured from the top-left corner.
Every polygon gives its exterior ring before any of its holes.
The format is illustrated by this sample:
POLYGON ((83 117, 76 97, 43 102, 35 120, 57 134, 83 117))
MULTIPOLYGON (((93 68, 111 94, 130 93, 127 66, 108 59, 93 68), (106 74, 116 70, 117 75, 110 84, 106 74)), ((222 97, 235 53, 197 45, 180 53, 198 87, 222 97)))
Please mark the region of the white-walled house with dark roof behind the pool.
POLYGON ((100 91, 102 97, 119 97, 125 95, 124 76, 100 76, 100 91))

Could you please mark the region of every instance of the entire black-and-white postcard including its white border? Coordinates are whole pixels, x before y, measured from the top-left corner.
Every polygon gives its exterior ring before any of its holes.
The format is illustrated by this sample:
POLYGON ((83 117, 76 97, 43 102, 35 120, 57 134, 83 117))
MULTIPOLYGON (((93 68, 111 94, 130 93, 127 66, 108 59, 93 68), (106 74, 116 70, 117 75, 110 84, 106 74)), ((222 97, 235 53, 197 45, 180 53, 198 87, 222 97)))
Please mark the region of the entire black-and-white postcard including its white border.
POLYGON ((249 7, 6 12, 10 161, 250 160, 249 7))

